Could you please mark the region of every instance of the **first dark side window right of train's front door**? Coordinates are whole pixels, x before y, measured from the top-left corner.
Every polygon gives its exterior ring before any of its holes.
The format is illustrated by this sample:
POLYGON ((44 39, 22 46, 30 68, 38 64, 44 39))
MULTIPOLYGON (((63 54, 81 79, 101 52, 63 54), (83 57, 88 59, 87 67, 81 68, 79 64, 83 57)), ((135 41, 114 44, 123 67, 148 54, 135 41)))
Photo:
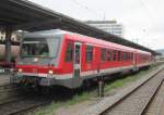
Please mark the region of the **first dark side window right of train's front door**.
POLYGON ((85 61, 91 62, 93 60, 93 47, 86 46, 85 61))

